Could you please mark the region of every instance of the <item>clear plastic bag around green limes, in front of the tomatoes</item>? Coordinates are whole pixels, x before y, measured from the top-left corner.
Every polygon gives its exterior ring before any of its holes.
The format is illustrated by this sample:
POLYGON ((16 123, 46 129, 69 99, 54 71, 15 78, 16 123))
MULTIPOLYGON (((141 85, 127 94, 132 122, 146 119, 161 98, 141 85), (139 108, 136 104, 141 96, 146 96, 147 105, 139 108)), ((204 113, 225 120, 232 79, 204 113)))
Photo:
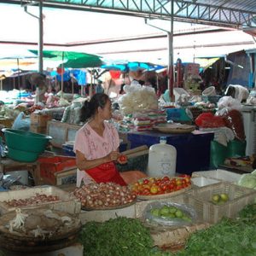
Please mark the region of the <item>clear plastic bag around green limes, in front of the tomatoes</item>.
POLYGON ((149 226, 159 227, 159 226, 169 226, 169 227, 179 227, 183 225, 189 225, 195 222, 197 218, 195 209, 185 205, 178 204, 171 201, 154 201, 149 203, 148 206, 143 211, 143 221, 149 226), (181 210, 183 214, 189 219, 183 218, 170 218, 168 216, 154 216, 152 210, 160 209, 162 207, 177 207, 181 210))

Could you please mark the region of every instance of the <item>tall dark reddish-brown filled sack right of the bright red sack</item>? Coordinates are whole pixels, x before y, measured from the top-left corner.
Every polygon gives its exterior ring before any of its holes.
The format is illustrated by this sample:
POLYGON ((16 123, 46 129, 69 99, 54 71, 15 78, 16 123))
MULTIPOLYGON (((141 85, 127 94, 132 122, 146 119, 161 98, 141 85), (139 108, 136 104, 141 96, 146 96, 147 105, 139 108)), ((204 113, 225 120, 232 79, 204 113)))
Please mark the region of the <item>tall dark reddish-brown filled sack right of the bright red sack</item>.
POLYGON ((244 141, 246 136, 241 112, 231 109, 230 111, 223 112, 222 117, 224 118, 225 126, 234 132, 235 137, 240 141, 244 141))

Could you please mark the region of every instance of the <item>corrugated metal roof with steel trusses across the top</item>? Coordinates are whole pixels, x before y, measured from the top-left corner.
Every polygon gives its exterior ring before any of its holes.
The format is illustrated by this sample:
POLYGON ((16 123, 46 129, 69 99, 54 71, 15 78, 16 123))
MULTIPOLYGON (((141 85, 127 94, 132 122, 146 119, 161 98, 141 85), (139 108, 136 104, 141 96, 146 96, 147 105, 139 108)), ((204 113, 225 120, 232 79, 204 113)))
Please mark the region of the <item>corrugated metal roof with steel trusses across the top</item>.
MULTIPOLYGON (((0 3, 38 3, 40 0, 0 0, 0 3)), ((82 9, 119 15, 187 21, 226 27, 255 27, 255 0, 44 0, 44 6, 82 9)))

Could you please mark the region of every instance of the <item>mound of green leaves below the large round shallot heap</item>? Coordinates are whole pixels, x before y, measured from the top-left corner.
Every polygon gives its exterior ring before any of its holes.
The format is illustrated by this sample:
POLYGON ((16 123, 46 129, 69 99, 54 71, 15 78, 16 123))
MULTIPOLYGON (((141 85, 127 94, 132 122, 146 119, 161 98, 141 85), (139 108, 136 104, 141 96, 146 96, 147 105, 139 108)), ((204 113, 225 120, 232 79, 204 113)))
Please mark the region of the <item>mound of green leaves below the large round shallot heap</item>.
POLYGON ((150 255, 153 239, 135 218, 113 218, 100 224, 84 224, 80 234, 86 256, 150 255))

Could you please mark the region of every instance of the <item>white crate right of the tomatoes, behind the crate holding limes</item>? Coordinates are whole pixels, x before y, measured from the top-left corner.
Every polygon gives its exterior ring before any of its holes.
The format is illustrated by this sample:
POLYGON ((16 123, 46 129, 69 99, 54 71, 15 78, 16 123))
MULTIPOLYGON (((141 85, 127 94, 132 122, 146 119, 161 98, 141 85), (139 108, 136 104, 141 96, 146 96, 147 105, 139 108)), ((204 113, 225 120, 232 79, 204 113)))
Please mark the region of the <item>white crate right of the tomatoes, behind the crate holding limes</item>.
POLYGON ((237 183, 241 177, 241 174, 238 174, 236 172, 229 172, 222 169, 217 169, 213 171, 193 172, 192 177, 208 177, 217 179, 219 181, 237 183))

